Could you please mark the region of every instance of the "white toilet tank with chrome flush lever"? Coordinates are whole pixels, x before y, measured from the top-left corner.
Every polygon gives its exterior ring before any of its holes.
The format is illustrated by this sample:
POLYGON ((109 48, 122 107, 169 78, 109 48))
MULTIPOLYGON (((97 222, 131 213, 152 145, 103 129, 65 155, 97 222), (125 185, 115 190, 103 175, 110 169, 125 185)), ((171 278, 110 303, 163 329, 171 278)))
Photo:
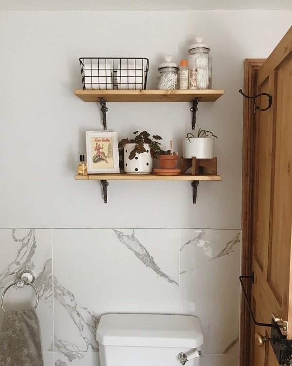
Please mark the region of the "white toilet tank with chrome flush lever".
POLYGON ((198 366, 203 334, 191 315, 105 314, 96 340, 101 366, 198 366))

